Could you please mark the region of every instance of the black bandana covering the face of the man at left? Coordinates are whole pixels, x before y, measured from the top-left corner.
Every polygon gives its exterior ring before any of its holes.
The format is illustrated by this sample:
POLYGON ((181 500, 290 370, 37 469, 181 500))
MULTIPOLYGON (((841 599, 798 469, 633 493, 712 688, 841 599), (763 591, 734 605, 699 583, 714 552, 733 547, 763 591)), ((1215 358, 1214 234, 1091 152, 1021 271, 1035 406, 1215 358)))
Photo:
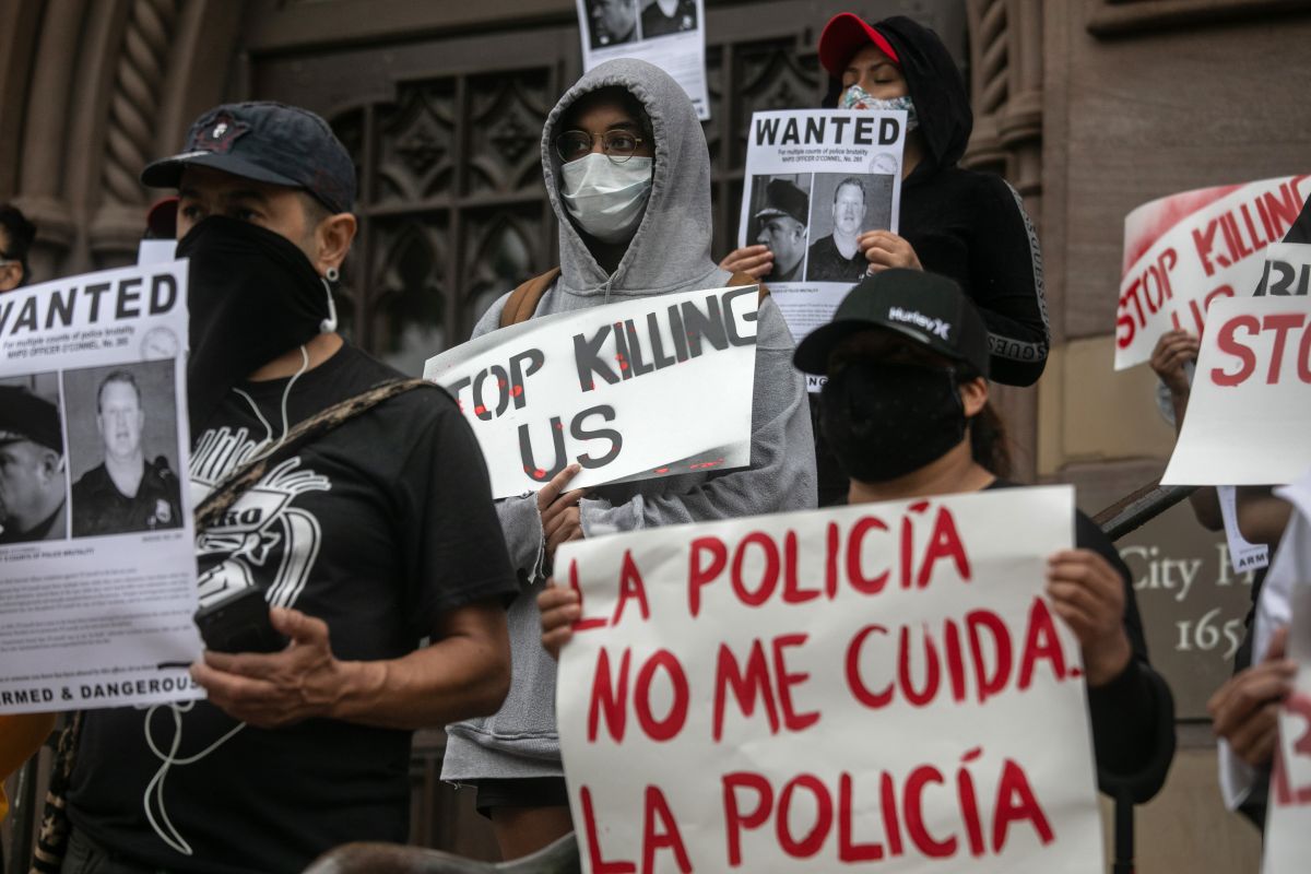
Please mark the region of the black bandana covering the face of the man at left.
POLYGON ((320 332, 328 292, 294 242, 249 221, 205 219, 177 244, 190 258, 191 439, 233 385, 320 332))

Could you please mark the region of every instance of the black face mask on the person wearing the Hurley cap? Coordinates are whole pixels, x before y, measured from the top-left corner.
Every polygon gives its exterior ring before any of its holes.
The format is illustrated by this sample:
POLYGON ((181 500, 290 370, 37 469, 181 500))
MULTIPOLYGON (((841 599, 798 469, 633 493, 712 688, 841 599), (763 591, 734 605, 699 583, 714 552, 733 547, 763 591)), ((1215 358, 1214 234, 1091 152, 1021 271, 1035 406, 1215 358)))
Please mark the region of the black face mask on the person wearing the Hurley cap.
POLYGON ((825 439, 860 482, 918 470, 965 439, 952 370, 853 362, 829 377, 819 402, 825 439))

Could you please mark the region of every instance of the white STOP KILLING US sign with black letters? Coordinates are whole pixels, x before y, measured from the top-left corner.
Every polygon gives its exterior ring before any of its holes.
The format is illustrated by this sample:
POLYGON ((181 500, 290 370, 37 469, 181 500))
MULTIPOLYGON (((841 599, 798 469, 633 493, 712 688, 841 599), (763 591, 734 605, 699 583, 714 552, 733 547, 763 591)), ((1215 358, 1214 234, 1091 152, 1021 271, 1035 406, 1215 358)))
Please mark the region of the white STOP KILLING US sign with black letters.
POLYGON ((532 318, 431 358, 479 439, 492 497, 743 468, 759 287, 709 288, 532 318))

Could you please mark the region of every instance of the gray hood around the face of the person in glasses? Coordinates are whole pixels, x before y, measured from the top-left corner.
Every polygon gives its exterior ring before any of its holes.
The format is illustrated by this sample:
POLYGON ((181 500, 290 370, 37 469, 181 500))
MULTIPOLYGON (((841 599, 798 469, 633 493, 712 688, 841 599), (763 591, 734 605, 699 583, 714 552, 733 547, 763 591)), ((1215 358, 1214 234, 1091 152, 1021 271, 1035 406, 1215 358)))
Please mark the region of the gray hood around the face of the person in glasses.
MULTIPOLYGON (((591 160, 599 164, 598 159, 591 160)), ((632 162, 638 160, 633 157, 625 164, 636 166, 632 162)), ((586 73, 547 117, 541 169, 560 221, 560 282, 565 291, 656 294, 711 287, 718 279, 711 259, 711 159, 705 135, 692 101, 665 71, 642 60, 620 59, 586 73), (625 105, 645 117, 636 119, 641 127, 638 136, 650 140, 636 153, 650 155, 652 182, 627 244, 623 238, 600 241, 583 231, 562 198, 566 182, 556 138, 569 130, 566 122, 574 121, 570 110, 602 89, 614 89, 625 105), (617 252, 621 256, 611 273, 600 261, 617 252)))

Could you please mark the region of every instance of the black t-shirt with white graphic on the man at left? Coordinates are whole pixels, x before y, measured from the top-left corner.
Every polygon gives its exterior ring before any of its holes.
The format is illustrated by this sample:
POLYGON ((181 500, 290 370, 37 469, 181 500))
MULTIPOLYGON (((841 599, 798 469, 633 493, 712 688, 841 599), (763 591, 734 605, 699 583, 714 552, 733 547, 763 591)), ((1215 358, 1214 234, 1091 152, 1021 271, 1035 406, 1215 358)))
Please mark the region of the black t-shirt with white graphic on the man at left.
MULTIPOLYGON (((346 346, 296 380, 290 425, 395 376, 346 346)), ((281 438, 287 384, 228 393, 195 440, 193 491, 281 438)), ((197 553, 202 603, 257 584, 325 620, 346 660, 402 656, 443 611, 518 590, 482 456, 439 390, 384 401, 275 465, 197 553)), ((168 870, 299 871, 345 841, 406 839, 410 732, 329 719, 270 731, 205 701, 177 709, 87 714, 69 812, 110 853, 168 870)))

